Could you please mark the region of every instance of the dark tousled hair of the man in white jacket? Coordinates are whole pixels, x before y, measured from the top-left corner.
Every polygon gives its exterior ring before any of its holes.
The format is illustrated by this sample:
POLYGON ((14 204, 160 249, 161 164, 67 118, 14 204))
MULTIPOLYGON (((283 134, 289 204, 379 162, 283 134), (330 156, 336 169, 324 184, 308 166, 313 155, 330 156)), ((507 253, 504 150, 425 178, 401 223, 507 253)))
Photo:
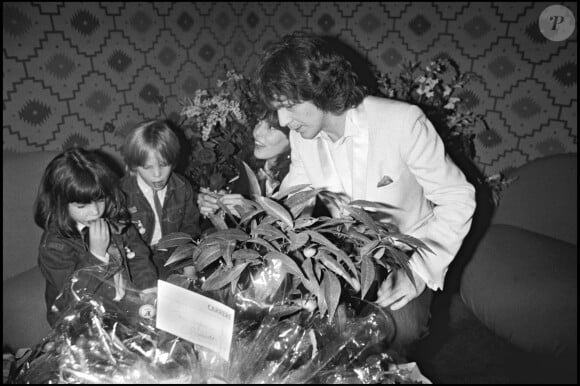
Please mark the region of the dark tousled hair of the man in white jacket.
POLYGON ((367 94, 343 55, 323 38, 302 31, 267 47, 256 74, 260 98, 271 109, 281 101, 309 101, 340 114, 358 106, 367 94))

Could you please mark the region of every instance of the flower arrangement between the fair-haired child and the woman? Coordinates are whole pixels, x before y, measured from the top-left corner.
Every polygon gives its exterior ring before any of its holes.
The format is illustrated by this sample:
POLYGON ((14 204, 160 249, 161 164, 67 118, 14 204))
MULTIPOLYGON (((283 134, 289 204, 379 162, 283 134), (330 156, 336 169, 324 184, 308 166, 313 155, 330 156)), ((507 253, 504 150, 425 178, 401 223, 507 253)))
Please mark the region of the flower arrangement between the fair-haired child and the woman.
POLYGON ((214 91, 201 89, 180 101, 179 124, 191 143, 185 174, 194 188, 226 189, 237 175, 237 160, 252 163, 252 128, 257 98, 251 82, 233 70, 214 91))

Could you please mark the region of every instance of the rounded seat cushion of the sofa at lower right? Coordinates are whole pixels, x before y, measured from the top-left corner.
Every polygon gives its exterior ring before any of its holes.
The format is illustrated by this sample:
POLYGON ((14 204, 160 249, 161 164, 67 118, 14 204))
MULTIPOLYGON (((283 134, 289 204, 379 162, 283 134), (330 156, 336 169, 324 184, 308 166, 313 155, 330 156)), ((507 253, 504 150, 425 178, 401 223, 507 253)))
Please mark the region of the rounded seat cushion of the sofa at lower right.
POLYGON ((530 352, 577 355, 577 247, 492 225, 466 265, 461 297, 488 328, 530 352))

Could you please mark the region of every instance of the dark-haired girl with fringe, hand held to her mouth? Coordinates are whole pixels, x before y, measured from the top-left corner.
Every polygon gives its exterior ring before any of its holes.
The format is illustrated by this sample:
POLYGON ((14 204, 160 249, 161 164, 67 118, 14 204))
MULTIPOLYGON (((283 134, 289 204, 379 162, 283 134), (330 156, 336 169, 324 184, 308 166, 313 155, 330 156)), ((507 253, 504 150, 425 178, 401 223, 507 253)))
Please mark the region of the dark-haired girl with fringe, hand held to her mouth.
POLYGON ((93 283, 91 291, 119 301, 131 282, 155 291, 150 251, 130 222, 118 178, 95 151, 74 148, 47 166, 35 202, 34 219, 44 229, 38 263, 46 279, 47 319, 54 327, 67 306, 59 296, 70 275, 97 266, 115 288, 93 283), (84 236, 86 234, 86 236, 84 236))

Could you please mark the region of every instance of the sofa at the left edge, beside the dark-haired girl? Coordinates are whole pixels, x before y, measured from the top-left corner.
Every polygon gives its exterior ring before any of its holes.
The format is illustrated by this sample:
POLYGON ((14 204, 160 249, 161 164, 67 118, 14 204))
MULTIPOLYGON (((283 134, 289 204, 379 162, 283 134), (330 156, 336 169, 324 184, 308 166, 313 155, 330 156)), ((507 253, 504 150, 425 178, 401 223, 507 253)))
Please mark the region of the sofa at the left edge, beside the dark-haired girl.
MULTIPOLYGON (((3 152, 2 340, 5 351, 34 346, 50 332, 44 301, 45 280, 38 268, 42 229, 33 205, 40 178, 60 152, 3 152)), ((121 173, 118 155, 104 153, 121 173)))

